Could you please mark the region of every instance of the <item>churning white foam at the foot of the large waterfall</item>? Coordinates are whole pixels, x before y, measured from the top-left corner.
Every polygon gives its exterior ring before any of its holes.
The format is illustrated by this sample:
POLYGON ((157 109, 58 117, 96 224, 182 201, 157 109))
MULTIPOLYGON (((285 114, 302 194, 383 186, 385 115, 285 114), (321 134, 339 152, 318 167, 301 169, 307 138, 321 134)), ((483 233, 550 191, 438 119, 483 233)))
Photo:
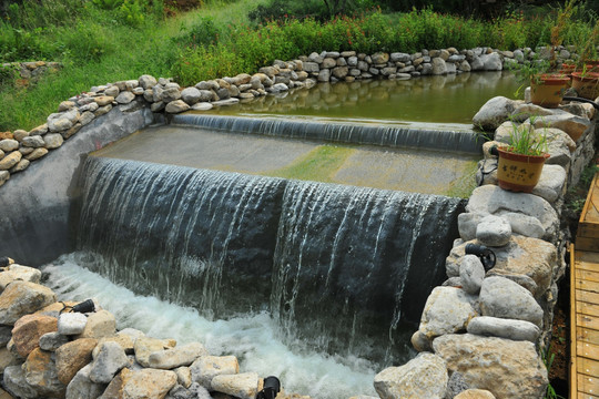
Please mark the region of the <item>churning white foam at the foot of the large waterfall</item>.
POLYGON ((277 376, 286 392, 318 399, 376 396, 376 366, 358 358, 339 358, 296 350, 282 342, 277 327, 266 313, 227 320, 207 320, 192 308, 153 297, 139 296, 77 264, 70 254, 43 267, 47 285, 61 300, 95 298, 114 314, 119 329, 133 327, 156 338, 179 344, 200 341, 212 355, 234 355, 242 371, 261 377, 277 376))

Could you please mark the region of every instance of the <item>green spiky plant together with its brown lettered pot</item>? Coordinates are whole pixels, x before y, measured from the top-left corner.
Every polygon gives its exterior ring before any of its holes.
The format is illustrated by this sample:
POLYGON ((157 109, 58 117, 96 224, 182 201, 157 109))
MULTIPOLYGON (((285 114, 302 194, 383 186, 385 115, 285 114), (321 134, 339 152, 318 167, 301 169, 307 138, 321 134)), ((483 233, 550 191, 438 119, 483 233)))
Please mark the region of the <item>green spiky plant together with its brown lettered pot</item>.
POLYGON ((549 157, 547 137, 539 135, 530 124, 511 122, 511 132, 507 144, 497 147, 499 161, 497 180, 499 187, 512 192, 530 193, 539 182, 542 165, 549 157))

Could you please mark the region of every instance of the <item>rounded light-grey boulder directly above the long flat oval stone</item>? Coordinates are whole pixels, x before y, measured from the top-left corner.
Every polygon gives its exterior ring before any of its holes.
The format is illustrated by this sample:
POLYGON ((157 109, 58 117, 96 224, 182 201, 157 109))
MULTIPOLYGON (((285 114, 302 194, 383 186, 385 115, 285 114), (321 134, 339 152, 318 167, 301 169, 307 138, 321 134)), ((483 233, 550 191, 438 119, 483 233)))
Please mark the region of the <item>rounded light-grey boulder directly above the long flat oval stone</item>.
POLYGON ((528 289, 500 276, 485 278, 480 287, 483 316, 526 320, 541 327, 542 309, 528 289))

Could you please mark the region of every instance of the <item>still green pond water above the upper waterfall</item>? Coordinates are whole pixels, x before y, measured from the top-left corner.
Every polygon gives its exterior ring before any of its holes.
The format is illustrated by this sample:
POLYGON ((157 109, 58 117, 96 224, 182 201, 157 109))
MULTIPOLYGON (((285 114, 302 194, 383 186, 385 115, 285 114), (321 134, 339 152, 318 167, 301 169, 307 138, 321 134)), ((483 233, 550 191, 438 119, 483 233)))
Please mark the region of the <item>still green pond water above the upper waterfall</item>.
POLYGON ((319 83, 311 90, 263 96, 210 113, 471 126, 485 102, 497 95, 514 98, 519 85, 511 72, 319 83))

